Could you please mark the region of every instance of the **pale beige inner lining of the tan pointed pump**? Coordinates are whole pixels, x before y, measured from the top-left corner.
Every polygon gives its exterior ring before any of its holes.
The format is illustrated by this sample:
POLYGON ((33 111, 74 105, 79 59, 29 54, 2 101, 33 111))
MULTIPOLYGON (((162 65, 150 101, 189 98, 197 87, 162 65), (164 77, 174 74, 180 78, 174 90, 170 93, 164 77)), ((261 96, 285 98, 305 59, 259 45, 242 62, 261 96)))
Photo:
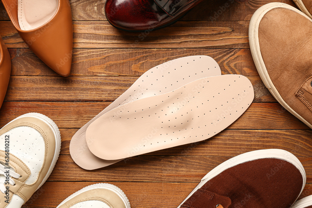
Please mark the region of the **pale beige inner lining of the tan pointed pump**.
POLYGON ((56 13, 58 0, 17 0, 18 23, 22 30, 41 27, 56 13))

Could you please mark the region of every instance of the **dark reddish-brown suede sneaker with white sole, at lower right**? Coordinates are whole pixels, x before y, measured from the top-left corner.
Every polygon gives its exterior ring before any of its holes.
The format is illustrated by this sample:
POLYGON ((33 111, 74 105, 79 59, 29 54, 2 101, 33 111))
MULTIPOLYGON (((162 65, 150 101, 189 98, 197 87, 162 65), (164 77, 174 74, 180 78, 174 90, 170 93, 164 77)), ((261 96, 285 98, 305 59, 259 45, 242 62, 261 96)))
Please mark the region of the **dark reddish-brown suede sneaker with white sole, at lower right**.
POLYGON ((178 208, 289 208, 305 182, 305 170, 290 152, 247 152, 210 171, 178 208))

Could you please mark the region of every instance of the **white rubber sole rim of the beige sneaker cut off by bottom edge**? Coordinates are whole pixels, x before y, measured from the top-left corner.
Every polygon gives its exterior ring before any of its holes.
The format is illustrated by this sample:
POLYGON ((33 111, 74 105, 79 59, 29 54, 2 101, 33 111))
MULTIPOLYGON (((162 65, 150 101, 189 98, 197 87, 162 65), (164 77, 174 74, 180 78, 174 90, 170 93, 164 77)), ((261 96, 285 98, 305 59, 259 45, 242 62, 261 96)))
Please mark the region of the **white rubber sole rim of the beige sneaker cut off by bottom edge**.
POLYGON ((124 202, 124 205, 126 206, 126 208, 130 208, 129 200, 128 200, 127 196, 124 194, 124 192, 120 188, 118 188, 117 186, 114 186, 114 185, 108 184, 108 183, 97 183, 97 184, 93 184, 93 185, 84 187, 83 189, 81 189, 81 190, 77 191, 76 193, 73 193, 71 196, 67 197, 56 208, 58 208, 61 205, 65 204, 66 201, 71 200, 72 198, 78 196, 79 194, 81 194, 81 193, 83 193, 85 191, 96 189, 96 188, 104 188, 104 189, 108 189, 110 191, 114 191, 122 199, 122 201, 124 202))

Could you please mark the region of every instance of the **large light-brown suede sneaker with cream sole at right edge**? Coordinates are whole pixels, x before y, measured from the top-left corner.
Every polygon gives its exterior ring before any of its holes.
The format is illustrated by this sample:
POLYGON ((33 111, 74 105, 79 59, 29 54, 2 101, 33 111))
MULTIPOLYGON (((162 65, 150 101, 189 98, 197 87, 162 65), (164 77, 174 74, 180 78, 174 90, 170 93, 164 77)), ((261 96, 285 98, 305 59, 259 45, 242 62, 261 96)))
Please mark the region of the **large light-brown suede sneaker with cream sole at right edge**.
POLYGON ((249 25, 259 75, 275 99, 312 128, 312 20, 284 3, 260 7, 249 25))

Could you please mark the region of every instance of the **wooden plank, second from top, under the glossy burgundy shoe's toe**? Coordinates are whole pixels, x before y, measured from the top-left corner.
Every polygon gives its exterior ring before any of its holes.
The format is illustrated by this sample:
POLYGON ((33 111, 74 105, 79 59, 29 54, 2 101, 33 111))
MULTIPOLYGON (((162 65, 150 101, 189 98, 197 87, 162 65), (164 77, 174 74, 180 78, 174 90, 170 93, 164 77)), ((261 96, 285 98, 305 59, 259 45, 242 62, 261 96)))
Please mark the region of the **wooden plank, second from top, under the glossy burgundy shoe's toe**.
MULTIPOLYGON (((27 48, 9 21, 0 21, 8 48, 27 48)), ((107 21, 74 22, 74 48, 249 48, 249 21, 180 21, 154 32, 124 32, 107 21)))

